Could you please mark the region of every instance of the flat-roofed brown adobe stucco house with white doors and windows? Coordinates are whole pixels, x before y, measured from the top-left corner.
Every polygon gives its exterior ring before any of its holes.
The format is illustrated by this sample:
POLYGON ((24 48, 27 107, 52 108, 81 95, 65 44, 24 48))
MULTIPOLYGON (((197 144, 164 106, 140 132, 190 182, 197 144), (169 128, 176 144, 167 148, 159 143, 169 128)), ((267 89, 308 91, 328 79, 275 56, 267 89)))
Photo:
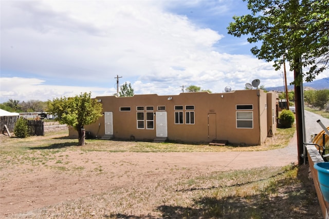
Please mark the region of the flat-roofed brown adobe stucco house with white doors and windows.
MULTIPOLYGON (((276 132, 276 94, 263 90, 96 97, 103 116, 86 125, 97 138, 257 145, 276 132)), ((70 129, 69 136, 77 137, 70 129)))

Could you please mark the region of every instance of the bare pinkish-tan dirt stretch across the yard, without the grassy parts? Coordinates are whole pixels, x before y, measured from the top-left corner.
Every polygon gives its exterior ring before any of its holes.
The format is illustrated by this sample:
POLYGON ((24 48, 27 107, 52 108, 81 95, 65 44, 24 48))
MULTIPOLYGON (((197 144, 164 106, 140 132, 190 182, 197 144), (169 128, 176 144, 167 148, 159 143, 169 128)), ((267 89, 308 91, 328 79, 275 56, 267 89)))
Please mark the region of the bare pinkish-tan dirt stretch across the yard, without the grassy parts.
MULTIPOLYGON (((86 217, 92 218, 98 213, 102 214, 103 218, 109 217, 104 212, 98 212, 98 209, 105 209, 108 205, 117 211, 121 209, 126 215, 132 213, 145 215, 150 212, 152 214, 154 206, 148 206, 145 203, 153 203, 158 206, 161 206, 161 202, 168 203, 168 200, 161 200, 158 195, 166 192, 166 188, 181 190, 182 188, 177 184, 180 179, 194 178, 216 171, 285 166, 296 162, 294 156, 286 156, 282 160, 273 161, 268 158, 261 160, 261 154, 252 155, 250 153, 249 155, 251 157, 248 158, 246 157, 248 155, 240 152, 230 155, 229 152, 104 153, 69 150, 52 154, 50 156, 52 159, 47 160, 43 165, 33 165, 34 162, 13 163, 10 168, 1 169, 0 218, 30 216, 34 218, 31 211, 42 209, 45 206, 53 206, 52 211, 56 212, 56 206, 59 203, 62 203, 62 206, 65 205, 63 203, 75 205, 74 208, 77 211, 79 198, 80 201, 81 198, 84 198, 84 202, 95 202, 93 198, 96 196, 93 195, 96 194, 104 195, 102 198, 98 197, 100 199, 98 205, 106 203, 107 206, 93 209, 93 205, 90 205, 90 213, 86 217), (249 161, 248 165, 246 165, 246 160, 249 161), (50 166, 52 168, 49 168, 50 166), (132 191, 136 193, 132 193, 132 191), (120 199, 119 193, 129 193, 128 196, 132 196, 132 199, 134 199, 134 195, 139 196, 135 198, 135 203, 131 204, 134 205, 134 212, 129 212, 132 207, 125 206, 126 202, 120 199), (147 200, 140 198, 142 193, 149 193, 145 195, 147 200)), ((207 185, 204 186, 207 187, 207 185)), ((184 199, 184 194, 179 197, 184 199)), ((84 207, 88 208, 88 206, 84 207)), ((58 215, 48 216, 49 218, 62 218, 65 217, 63 211, 65 209, 61 207, 58 215)), ((75 216, 71 216, 71 218, 75 218, 75 216)))

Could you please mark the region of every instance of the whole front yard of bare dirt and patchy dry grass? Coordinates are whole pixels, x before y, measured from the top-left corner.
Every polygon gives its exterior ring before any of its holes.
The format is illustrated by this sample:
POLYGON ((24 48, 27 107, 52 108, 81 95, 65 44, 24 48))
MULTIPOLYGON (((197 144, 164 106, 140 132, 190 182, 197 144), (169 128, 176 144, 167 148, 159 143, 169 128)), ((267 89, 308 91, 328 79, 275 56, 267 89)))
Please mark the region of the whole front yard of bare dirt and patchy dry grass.
POLYGON ((1 136, 0 218, 322 218, 308 167, 290 149, 77 146, 65 129, 1 136))

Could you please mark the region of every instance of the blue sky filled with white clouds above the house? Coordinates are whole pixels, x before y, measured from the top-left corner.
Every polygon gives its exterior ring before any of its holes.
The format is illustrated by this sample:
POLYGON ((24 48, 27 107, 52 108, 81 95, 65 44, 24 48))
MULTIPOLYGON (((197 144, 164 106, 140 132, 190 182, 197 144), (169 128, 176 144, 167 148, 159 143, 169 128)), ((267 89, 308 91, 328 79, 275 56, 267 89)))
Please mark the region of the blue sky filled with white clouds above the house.
POLYGON ((182 85, 222 93, 253 79, 283 85, 283 69, 253 57, 246 36, 227 34, 232 16, 248 13, 243 1, 0 4, 0 102, 113 95, 117 75, 135 94, 175 95, 182 85))

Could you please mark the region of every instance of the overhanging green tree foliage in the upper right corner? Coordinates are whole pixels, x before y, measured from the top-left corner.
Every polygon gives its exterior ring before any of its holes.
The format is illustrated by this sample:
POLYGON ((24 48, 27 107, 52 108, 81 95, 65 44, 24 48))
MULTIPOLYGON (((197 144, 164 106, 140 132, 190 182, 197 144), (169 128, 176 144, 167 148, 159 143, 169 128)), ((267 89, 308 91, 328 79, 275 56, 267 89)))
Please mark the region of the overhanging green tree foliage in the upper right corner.
MULTIPOLYGON (((250 14, 233 16, 228 33, 248 35, 249 43, 261 43, 251 49, 259 59, 274 62, 279 70, 284 60, 290 70, 306 67, 306 81, 312 81, 329 61, 329 0, 244 0, 250 14), (300 56, 302 59, 299 60, 300 56)), ((295 78, 299 84, 302 77, 295 78)))

